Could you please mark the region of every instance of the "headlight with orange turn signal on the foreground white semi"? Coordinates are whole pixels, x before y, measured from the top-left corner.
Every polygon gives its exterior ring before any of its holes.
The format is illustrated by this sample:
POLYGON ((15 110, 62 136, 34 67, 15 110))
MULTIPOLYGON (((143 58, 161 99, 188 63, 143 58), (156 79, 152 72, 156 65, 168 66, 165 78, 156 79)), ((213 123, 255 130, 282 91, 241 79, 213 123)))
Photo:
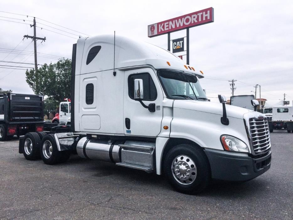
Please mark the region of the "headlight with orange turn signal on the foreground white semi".
POLYGON ((249 153, 247 145, 236 137, 232 137, 229 135, 222 135, 221 142, 222 142, 223 148, 227 151, 249 153))

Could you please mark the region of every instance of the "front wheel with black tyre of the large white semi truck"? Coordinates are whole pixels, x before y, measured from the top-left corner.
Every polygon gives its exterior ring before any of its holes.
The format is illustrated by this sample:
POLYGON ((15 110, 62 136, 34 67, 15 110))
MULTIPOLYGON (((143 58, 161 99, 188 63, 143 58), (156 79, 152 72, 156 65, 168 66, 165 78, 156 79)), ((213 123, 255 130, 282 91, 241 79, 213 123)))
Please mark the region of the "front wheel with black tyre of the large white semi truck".
POLYGON ((211 179, 208 158, 191 144, 172 148, 164 160, 163 171, 175 190, 185 194, 200 193, 211 179))

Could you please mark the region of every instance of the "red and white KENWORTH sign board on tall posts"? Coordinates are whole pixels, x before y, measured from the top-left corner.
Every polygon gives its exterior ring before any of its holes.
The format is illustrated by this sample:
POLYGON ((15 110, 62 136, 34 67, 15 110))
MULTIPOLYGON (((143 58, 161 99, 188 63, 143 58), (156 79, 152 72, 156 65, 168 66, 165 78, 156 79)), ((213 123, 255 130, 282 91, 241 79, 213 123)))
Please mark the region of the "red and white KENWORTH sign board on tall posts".
POLYGON ((147 32, 148 37, 155 37, 169 32, 183 30, 211 22, 214 22, 214 8, 212 7, 185 14, 177 18, 161 21, 156 24, 148 25, 147 32))

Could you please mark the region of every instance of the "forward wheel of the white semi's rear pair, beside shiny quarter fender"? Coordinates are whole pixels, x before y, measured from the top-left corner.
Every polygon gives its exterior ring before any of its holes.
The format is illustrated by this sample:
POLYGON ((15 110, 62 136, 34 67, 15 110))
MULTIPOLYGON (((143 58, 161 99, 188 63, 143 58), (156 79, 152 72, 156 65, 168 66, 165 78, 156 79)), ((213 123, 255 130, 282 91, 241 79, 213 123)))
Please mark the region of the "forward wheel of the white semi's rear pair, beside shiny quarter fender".
POLYGON ((41 158, 45 164, 64 163, 70 157, 69 151, 58 151, 54 134, 46 134, 41 142, 41 158))

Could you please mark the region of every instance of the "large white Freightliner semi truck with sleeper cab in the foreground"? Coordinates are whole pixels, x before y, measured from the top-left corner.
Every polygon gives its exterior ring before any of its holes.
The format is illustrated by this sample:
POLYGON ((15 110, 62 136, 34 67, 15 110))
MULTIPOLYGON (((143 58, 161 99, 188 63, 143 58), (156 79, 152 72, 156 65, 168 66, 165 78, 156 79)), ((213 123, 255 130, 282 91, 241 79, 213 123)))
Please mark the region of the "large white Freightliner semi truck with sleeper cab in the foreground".
POLYGON ((101 35, 73 45, 71 132, 27 133, 19 153, 45 164, 82 158, 164 174, 183 193, 211 178, 246 181, 270 168, 266 117, 212 103, 201 72, 152 44, 101 35), (114 52, 115 49, 115 52, 114 52))

